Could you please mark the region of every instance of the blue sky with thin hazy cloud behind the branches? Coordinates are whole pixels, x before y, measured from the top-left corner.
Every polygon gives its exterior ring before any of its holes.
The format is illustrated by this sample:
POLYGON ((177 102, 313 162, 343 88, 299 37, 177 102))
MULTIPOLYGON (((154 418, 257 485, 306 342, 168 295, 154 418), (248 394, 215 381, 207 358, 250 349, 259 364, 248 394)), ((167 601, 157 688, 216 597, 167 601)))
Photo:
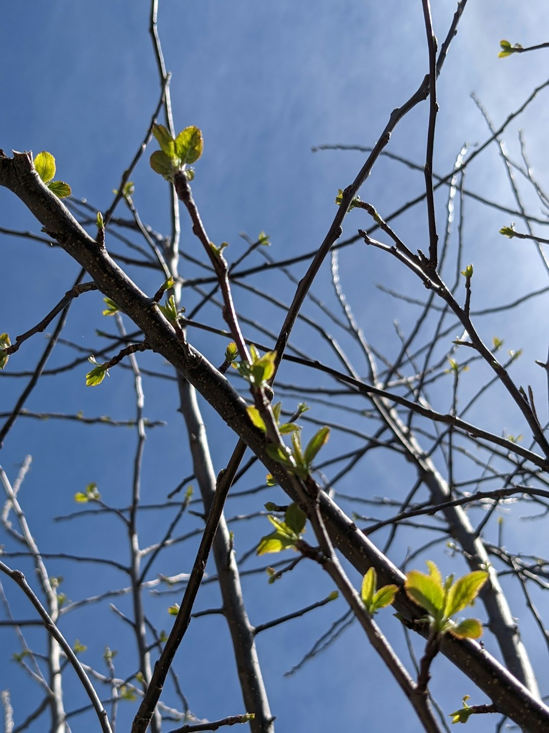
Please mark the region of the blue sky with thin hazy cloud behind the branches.
MULTIPOLYGON (((439 42, 446 35, 454 10, 455 5, 446 0, 433 1, 433 23, 439 42)), ((52 152, 57 163, 56 178, 70 183, 77 199, 84 198, 94 210, 105 212, 113 197, 112 189, 118 186, 122 172, 141 144, 160 95, 148 32, 149 2, 50 0, 47 4, 39 4, 21 0, 5 4, 2 21, 0 147, 7 154, 11 150, 32 150, 34 154, 41 150, 52 152)), ((485 122, 471 100, 471 92, 477 94, 494 124, 500 125, 535 86, 545 81, 545 51, 510 59, 498 59, 497 54, 502 38, 523 45, 544 42, 542 30, 547 27, 549 7, 543 0, 531 0, 528 10, 511 0, 484 0, 482 3, 471 0, 468 3, 438 85, 436 172, 447 174, 452 169, 464 142, 473 147, 488 137, 485 122)), ((161 0, 159 30, 166 67, 172 73, 171 99, 176 129, 198 125, 203 131, 205 150, 196 165, 193 194, 209 237, 216 243, 228 241, 231 244, 227 250, 229 261, 244 251, 240 232, 247 232, 252 238, 261 230, 267 232, 272 241, 269 254, 276 258, 318 248, 335 215, 337 189, 345 188, 354 180, 365 154, 312 152, 311 149, 321 144, 372 146, 392 109, 408 99, 427 72, 427 47, 419 0, 415 3, 343 0, 337 4, 326 0, 300 4, 288 0, 271 4, 248 0, 231 3, 161 0)), ((536 103, 513 122, 506 133, 509 150, 518 158, 517 130, 523 128, 534 175, 542 185, 547 184, 546 171, 549 169, 546 95, 547 92, 542 92, 536 103)), ((422 165, 427 114, 424 104, 408 115, 395 130, 388 150, 422 165)), ((155 147, 154 144, 150 146, 132 174, 133 198, 142 220, 155 231, 168 234, 167 187, 153 174, 147 162, 155 147)), ((477 161, 466 176, 466 186, 502 205, 515 207, 496 147, 490 147, 477 161)), ((386 215, 421 190, 420 172, 381 159, 360 195, 386 215)), ((436 197, 441 221, 444 221, 446 196, 447 191, 441 190, 436 197)), ((531 213, 542 216, 539 202, 529 194, 525 194, 525 199, 531 213)), ((118 213, 127 216, 122 206, 118 213)), ((498 234, 501 226, 511 223, 508 215, 479 207, 469 199, 466 213, 463 262, 474 263, 477 307, 502 303, 512 299, 515 293, 518 297, 545 287, 547 273, 533 248, 498 234)), ((182 250, 201 257, 183 214, 182 250)), ((0 226, 40 233, 40 225, 18 199, 4 189, 0 190, 0 226)), ((354 211, 346 219, 343 237, 354 235, 360 226, 367 226, 365 214, 354 211)), ((92 233, 94 229, 88 227, 88 230, 92 233)), ((406 236, 412 250, 425 249, 425 210, 417 207, 401 218, 398 231, 406 236)), ((548 236, 542 231, 540 235, 548 236)), ((107 244, 113 251, 122 251, 119 243, 108 241, 107 244)), ((59 249, 7 236, 1 239, 1 262, 4 278, 0 331, 8 331, 13 340, 16 334, 37 323, 72 287, 78 265, 59 249)), ((305 267, 302 264, 293 268, 294 276, 302 276, 305 267)), ((128 271, 146 292, 154 292, 160 284, 157 273, 151 275, 143 268, 129 268, 128 271)), ((201 272, 184 261, 180 271, 185 277, 201 272)), ((414 293, 416 297, 422 297, 422 287, 403 268, 398 268, 394 260, 359 244, 341 251, 340 275, 356 320, 364 328, 367 339, 388 355, 395 356, 399 344, 393 321, 398 320, 406 331, 414 323, 417 311, 375 286, 382 282, 399 292, 414 293)), ((273 275, 267 280, 264 276, 255 276, 249 282, 286 303, 291 299, 288 281, 282 276, 273 275)), ((328 268, 321 271, 313 290, 328 307, 337 309, 328 268)), ((277 333, 284 317, 281 309, 253 298, 239 287, 235 287, 234 297, 239 311, 259 323, 268 323, 271 331, 277 333)), ((197 301, 198 295, 184 290, 183 302, 187 311, 197 301)), ((72 306, 65 337, 94 353, 104 344, 97 338, 96 329, 114 330, 111 322, 105 325, 101 320, 101 309, 99 294, 81 296, 72 306)), ((505 339, 506 348, 523 348, 523 357, 513 374, 519 383, 531 384, 534 394, 540 395, 544 419, 545 375, 535 366, 534 359, 545 358, 548 333, 540 317, 545 312, 546 296, 518 309, 512 318, 500 314, 483 320, 481 329, 482 336, 488 340, 497 334, 505 339)), ((307 314, 313 320, 328 323, 325 314, 312 304, 307 305, 307 314)), ((203 318, 217 328, 223 327, 216 309, 206 308, 203 318)), ((335 326, 331 324, 329 328, 335 326)), ((130 323, 127 329, 132 330, 130 323)), ((272 345, 253 325, 246 326, 246 335, 266 342, 267 346, 272 345)), ((226 339, 212 339, 201 332, 193 333, 192 338, 193 344, 214 364, 223 361, 226 339)), ((354 346, 345 341, 344 334, 337 334, 337 338, 351 356, 357 356, 354 346)), ((299 326, 296 343, 306 353, 321 353, 329 364, 337 364, 335 358, 326 353, 313 329, 299 326)), ((33 369, 44 347, 42 336, 34 336, 10 358, 8 371, 33 369)), ((48 367, 66 364, 74 357, 74 350, 59 345, 48 367)), ((154 356, 143 356, 140 364, 171 374, 154 356)), ((360 369, 364 369, 362 364, 360 369)), ((83 410, 86 416, 108 414, 121 419, 133 416, 130 372, 113 370, 110 379, 92 390, 84 386, 86 371, 83 364, 74 372, 45 377, 26 406, 29 410, 71 414, 83 410)), ((308 379, 307 373, 299 370, 282 370, 280 375, 283 382, 294 380, 306 384, 308 379)), ((471 391, 478 383, 474 380, 478 379, 482 379, 482 373, 471 376, 471 391)), ((0 412, 12 408, 24 381, 0 379, 0 412)), ((174 383, 144 381, 147 417, 166 420, 168 426, 149 431, 143 467, 143 500, 163 501, 168 491, 191 473, 189 455, 176 413, 174 383)), ((438 407, 447 409, 448 399, 446 393, 438 407)), ((513 434, 523 432, 523 424, 515 411, 498 399, 498 393, 490 399, 485 403, 489 409, 481 405, 477 412, 483 427, 496 432, 501 432, 502 427, 513 434)), ((294 397, 294 402, 297 401, 294 397)), ((288 409, 291 409, 289 404, 288 409)), ((231 453, 234 437, 207 405, 204 413, 214 468, 219 471, 231 453)), ((314 409, 314 416, 323 419, 320 408, 314 409)), ((350 446, 355 445, 358 439, 349 437, 348 442, 350 446)), ((330 450, 335 452, 341 445, 340 442, 330 450)), ((53 420, 45 427, 40 421, 23 418, 15 424, 0 452, 0 463, 13 481, 25 455, 33 457, 21 501, 42 550, 67 553, 75 552, 76 547, 78 554, 83 556, 127 560, 127 538, 112 517, 85 515, 64 522, 53 522, 52 517, 68 515, 78 509, 72 496, 89 482, 97 482, 102 497, 109 504, 125 506, 130 497, 134 449, 135 431, 132 430, 86 427, 53 420)), ((264 471, 258 470, 240 488, 244 490, 261 484, 263 475, 264 471)), ((354 474, 341 490, 347 488, 349 493, 364 490, 370 496, 395 496, 404 481, 398 471, 388 471, 385 454, 385 459, 380 456, 370 460, 367 471, 354 474), (356 482, 365 482, 367 486, 357 487, 356 482)), ((404 492, 407 487, 408 484, 404 492)), ((229 503, 227 515, 258 512, 268 500, 283 501, 283 496, 280 492, 269 496, 261 493, 257 497, 236 499, 229 503)), ((141 527, 143 545, 154 541, 169 521, 168 510, 146 516, 143 516, 141 527), (149 520, 146 516, 154 518, 149 520)), ((181 534, 199 526, 197 520, 188 517, 182 523, 181 534)), ((531 523, 513 526, 513 534, 507 539, 513 550, 543 551, 542 535, 536 537, 531 528, 531 523)), ((266 520, 235 524, 234 529, 239 555, 253 548, 261 534, 269 531, 266 520)), ((396 564, 403 561, 406 547, 405 539, 395 545, 391 559, 396 564)), ((190 570, 194 552, 192 542, 179 545, 176 550, 166 553, 164 564, 157 567, 156 572, 171 574, 190 570)), ((438 553, 433 559, 447 572, 463 572, 457 560, 445 556, 442 549, 438 553)), ((209 570, 212 572, 211 568, 209 570)), ((72 600, 82 594, 99 593, 105 587, 124 584, 124 579, 111 570, 86 563, 52 559, 51 564, 48 561, 48 572, 64 576, 63 590, 72 600)), ((356 573, 353 580, 358 585, 356 573)), ((6 581, 4 586, 7 585, 6 581)), ((320 570, 305 568, 303 564, 273 586, 267 585, 264 576, 246 578, 243 586, 253 623, 294 611, 320 600, 332 590, 320 570)), ((168 627, 170 618, 166 608, 175 600, 180 600, 176 594, 152 597, 148 601, 148 612, 158 628, 168 627)), ((10 603, 14 613, 23 617, 31 615, 28 605, 12 589, 10 603)), ((204 586, 197 608, 212 608, 218 603, 214 583, 204 586)), ((116 600, 116 605, 130 612, 127 597, 116 600)), ((523 601, 517 599, 515 613, 519 617, 523 608, 523 601)), ((269 701, 277 715, 277 730, 343 731, 354 730, 359 725, 373 732, 404 729, 414 733, 419 730, 406 702, 400 701, 396 685, 374 658, 358 630, 348 630, 337 644, 299 674, 283 677, 283 673, 302 658, 316 638, 344 611, 343 602, 329 604, 305 619, 297 619, 258 637, 269 701)), ((131 653, 127 652, 130 648, 127 627, 108 609, 100 611, 97 605, 88 606, 67 614, 63 624, 70 641, 80 638, 88 645, 84 662, 100 667, 105 644, 119 650, 119 660, 131 653)), ((390 614, 381 619, 381 625, 391 627, 390 614)), ((199 717, 210 719, 244 712, 223 621, 217 616, 205 616, 193 622, 191 631, 176 659, 191 710, 199 717)), ((532 658, 537 669, 545 669, 546 652, 539 644, 539 632, 526 629, 523 633, 534 649, 532 658)), ((28 637, 31 641, 37 640, 38 644, 43 635, 29 632, 28 637)), ((395 644, 403 651, 400 637, 395 637, 395 644)), ((11 631, 0 629, 0 648, 14 652, 18 649, 11 631)), ((3 658, 9 655, 10 651, 3 654, 3 658)), ((119 674, 129 674, 132 663, 124 666, 120 661, 119 664, 119 674)), ((67 710, 73 710, 83 699, 72 674, 65 674, 65 678, 67 710)), ((474 692, 471 683, 448 665, 441 666, 440 679, 435 684, 438 699, 447 712, 459 707, 464 694, 474 692), (443 678, 442 674, 448 677, 443 678)), ((16 721, 20 721, 40 700, 39 692, 14 662, 3 661, 0 663, 0 689, 6 687, 12 693, 16 721)), ((122 727, 131 720, 133 712, 130 703, 120 711, 122 727)), ((84 716, 75 717, 71 721, 72 730, 89 730, 85 721, 84 716)), ((475 721, 469 723, 469 727, 472 731, 486 730, 475 721)), ((35 729, 41 729, 40 725, 35 729)), ((168 729, 169 726, 165 726, 165 730, 168 729)))

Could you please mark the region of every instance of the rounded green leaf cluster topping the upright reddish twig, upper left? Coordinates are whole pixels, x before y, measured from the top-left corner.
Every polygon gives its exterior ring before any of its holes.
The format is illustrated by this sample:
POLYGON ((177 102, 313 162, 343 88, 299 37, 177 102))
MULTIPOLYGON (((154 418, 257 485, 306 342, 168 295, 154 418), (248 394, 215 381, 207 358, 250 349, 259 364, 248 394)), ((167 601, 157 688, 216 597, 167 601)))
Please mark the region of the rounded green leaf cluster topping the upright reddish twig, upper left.
POLYGON ((188 180, 193 180, 193 171, 185 171, 185 166, 195 163, 202 155, 204 143, 201 130, 191 126, 173 138, 164 125, 153 125, 152 133, 160 145, 160 150, 153 152, 150 158, 153 171, 170 181, 179 172, 184 172, 188 180))

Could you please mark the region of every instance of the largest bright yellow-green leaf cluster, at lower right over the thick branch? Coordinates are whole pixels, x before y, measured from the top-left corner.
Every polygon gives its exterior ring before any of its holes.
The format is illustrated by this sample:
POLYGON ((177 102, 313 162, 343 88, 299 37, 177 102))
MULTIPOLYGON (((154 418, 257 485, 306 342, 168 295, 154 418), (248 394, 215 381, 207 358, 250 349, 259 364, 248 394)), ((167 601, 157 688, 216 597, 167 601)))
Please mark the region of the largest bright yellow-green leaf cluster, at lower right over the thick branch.
POLYGON ((482 636, 479 619, 464 619, 456 624, 452 616, 474 603, 479 590, 488 580, 488 572, 474 570, 454 582, 454 575, 445 581, 434 562, 427 560, 428 574, 411 570, 406 574, 404 588, 408 596, 425 608, 434 633, 451 633, 458 638, 476 639, 482 636))

